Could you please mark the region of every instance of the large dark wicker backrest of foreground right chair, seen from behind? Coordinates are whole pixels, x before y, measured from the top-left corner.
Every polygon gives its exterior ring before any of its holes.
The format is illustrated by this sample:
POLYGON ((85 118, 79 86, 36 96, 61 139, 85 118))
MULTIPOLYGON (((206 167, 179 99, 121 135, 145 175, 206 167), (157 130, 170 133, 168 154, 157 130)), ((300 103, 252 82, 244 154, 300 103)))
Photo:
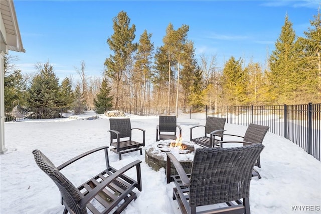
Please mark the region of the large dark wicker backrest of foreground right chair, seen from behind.
POLYGON ((191 171, 190 206, 249 197, 252 170, 262 144, 235 148, 199 148, 191 171))

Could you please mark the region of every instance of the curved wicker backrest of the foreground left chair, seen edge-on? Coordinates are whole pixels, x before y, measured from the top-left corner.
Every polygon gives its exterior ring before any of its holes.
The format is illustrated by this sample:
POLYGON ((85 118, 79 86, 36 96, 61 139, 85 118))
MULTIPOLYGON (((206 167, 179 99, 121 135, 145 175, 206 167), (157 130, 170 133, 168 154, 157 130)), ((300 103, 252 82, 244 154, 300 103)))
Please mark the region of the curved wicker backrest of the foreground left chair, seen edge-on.
POLYGON ((64 203, 75 213, 87 213, 86 207, 80 209, 77 205, 82 199, 80 191, 56 168, 56 166, 39 150, 34 150, 35 161, 42 171, 44 171, 58 186, 64 203))

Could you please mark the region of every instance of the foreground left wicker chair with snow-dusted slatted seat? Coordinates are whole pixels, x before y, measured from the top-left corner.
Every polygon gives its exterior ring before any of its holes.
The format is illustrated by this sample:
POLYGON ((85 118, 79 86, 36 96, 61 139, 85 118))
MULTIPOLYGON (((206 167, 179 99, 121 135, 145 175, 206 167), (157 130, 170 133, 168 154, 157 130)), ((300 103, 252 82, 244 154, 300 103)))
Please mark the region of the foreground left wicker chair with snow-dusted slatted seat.
MULTIPOLYGON (((108 146, 85 152, 56 167, 41 151, 34 150, 35 161, 38 166, 55 182, 61 193, 61 203, 65 206, 63 213, 120 213, 126 206, 137 198, 134 188, 139 191, 141 186, 141 161, 136 160, 119 170, 109 165, 108 146), (104 150, 106 169, 91 177, 88 181, 75 187, 61 172, 63 168, 75 161, 104 150), (136 167, 137 180, 124 173, 136 167), (102 210, 102 211, 98 211, 102 210)), ((81 174, 79 174, 81 176, 81 174)), ((44 195, 45 196, 45 195, 44 195)))

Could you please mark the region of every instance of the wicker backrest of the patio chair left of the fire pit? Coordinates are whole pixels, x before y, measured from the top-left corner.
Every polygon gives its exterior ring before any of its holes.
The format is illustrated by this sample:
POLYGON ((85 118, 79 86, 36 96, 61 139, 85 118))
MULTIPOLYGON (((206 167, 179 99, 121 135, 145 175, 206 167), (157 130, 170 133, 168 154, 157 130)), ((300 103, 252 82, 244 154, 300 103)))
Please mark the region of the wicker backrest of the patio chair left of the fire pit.
MULTIPOLYGON (((109 119, 110 130, 118 131, 119 138, 131 138, 131 124, 129 118, 124 119, 109 119)), ((110 133, 110 139, 117 139, 115 133, 110 133)))

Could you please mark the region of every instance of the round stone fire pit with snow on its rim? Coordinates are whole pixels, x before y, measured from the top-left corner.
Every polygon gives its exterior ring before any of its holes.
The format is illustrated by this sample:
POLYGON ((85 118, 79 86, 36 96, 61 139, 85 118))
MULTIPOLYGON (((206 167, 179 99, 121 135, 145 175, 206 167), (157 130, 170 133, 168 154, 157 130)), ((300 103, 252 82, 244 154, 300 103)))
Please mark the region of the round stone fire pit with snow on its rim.
MULTIPOLYGON (((147 165, 155 171, 162 167, 166 169, 166 153, 171 152, 180 161, 185 172, 191 173, 195 150, 200 146, 192 142, 182 142, 183 148, 170 147, 171 144, 174 144, 174 142, 166 140, 149 145, 145 150, 145 162, 147 165)), ((171 164, 171 174, 177 174, 173 164, 171 164)))

